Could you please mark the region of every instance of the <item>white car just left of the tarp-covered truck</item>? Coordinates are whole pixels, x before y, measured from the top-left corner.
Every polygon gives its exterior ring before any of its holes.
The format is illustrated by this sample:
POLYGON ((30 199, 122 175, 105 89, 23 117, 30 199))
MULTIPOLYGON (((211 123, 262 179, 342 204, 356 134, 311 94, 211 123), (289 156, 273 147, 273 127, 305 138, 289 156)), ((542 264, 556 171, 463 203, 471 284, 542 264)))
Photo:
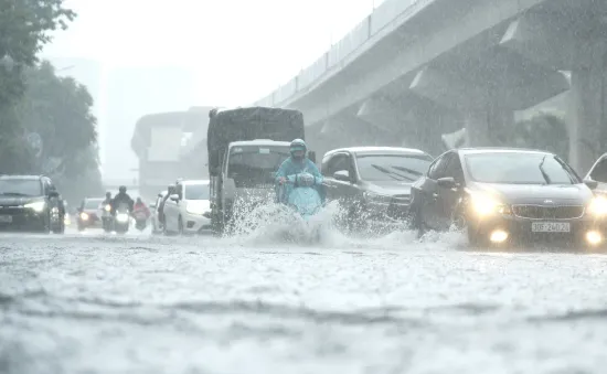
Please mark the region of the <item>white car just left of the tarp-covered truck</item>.
POLYGON ((196 234, 211 229, 210 183, 180 181, 164 203, 166 234, 196 234))

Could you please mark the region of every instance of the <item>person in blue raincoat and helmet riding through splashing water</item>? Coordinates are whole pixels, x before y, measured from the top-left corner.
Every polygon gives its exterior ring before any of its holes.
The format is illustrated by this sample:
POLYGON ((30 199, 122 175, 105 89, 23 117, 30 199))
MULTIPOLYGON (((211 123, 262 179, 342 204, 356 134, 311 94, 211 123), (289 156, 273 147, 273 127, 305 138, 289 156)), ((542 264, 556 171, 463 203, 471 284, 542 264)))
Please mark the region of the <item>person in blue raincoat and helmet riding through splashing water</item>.
POLYGON ((307 172, 315 177, 315 189, 318 191, 322 204, 324 204, 327 194, 324 193, 324 186, 322 185, 322 174, 320 174, 320 171, 316 164, 307 158, 308 147, 306 146, 306 142, 301 139, 295 139, 291 141, 289 151, 291 156, 286 159, 283 164, 280 164, 280 168, 278 168, 278 171, 276 172, 277 202, 285 204, 289 193, 294 189, 292 185, 286 183, 287 175, 307 172), (286 190, 281 191, 281 188, 286 190))

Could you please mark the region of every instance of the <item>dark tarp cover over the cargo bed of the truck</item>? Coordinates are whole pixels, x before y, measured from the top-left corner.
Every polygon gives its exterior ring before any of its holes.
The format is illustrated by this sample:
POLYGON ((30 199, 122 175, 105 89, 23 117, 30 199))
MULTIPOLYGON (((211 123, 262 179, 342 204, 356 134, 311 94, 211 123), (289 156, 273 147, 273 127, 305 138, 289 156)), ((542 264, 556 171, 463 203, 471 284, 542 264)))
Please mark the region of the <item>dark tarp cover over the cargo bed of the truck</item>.
POLYGON ((220 110, 209 122, 209 172, 221 165, 221 158, 233 141, 297 138, 305 139, 303 115, 299 110, 264 107, 220 110))

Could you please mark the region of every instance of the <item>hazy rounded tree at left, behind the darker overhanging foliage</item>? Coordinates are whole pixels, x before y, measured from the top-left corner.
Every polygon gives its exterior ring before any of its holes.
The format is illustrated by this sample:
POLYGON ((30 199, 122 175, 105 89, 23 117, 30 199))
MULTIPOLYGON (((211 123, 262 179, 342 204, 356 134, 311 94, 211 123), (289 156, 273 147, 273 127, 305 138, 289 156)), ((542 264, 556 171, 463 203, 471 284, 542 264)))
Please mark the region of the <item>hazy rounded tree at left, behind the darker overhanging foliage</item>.
POLYGON ((74 78, 57 76, 46 61, 25 71, 24 76, 26 89, 15 105, 23 128, 18 138, 35 132, 42 139, 39 154, 34 156, 29 145, 21 148, 29 149, 24 159, 30 160, 30 170, 52 177, 71 201, 99 193, 96 118, 87 88, 74 78))

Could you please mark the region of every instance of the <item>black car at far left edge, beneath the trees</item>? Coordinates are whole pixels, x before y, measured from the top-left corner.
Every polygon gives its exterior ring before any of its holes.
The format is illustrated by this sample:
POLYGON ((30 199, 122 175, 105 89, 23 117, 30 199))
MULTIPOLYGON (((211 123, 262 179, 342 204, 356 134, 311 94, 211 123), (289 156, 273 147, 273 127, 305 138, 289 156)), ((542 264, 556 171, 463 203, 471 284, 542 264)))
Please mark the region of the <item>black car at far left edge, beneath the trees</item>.
POLYGON ((63 233, 64 215, 50 178, 0 175, 0 229, 63 233))

